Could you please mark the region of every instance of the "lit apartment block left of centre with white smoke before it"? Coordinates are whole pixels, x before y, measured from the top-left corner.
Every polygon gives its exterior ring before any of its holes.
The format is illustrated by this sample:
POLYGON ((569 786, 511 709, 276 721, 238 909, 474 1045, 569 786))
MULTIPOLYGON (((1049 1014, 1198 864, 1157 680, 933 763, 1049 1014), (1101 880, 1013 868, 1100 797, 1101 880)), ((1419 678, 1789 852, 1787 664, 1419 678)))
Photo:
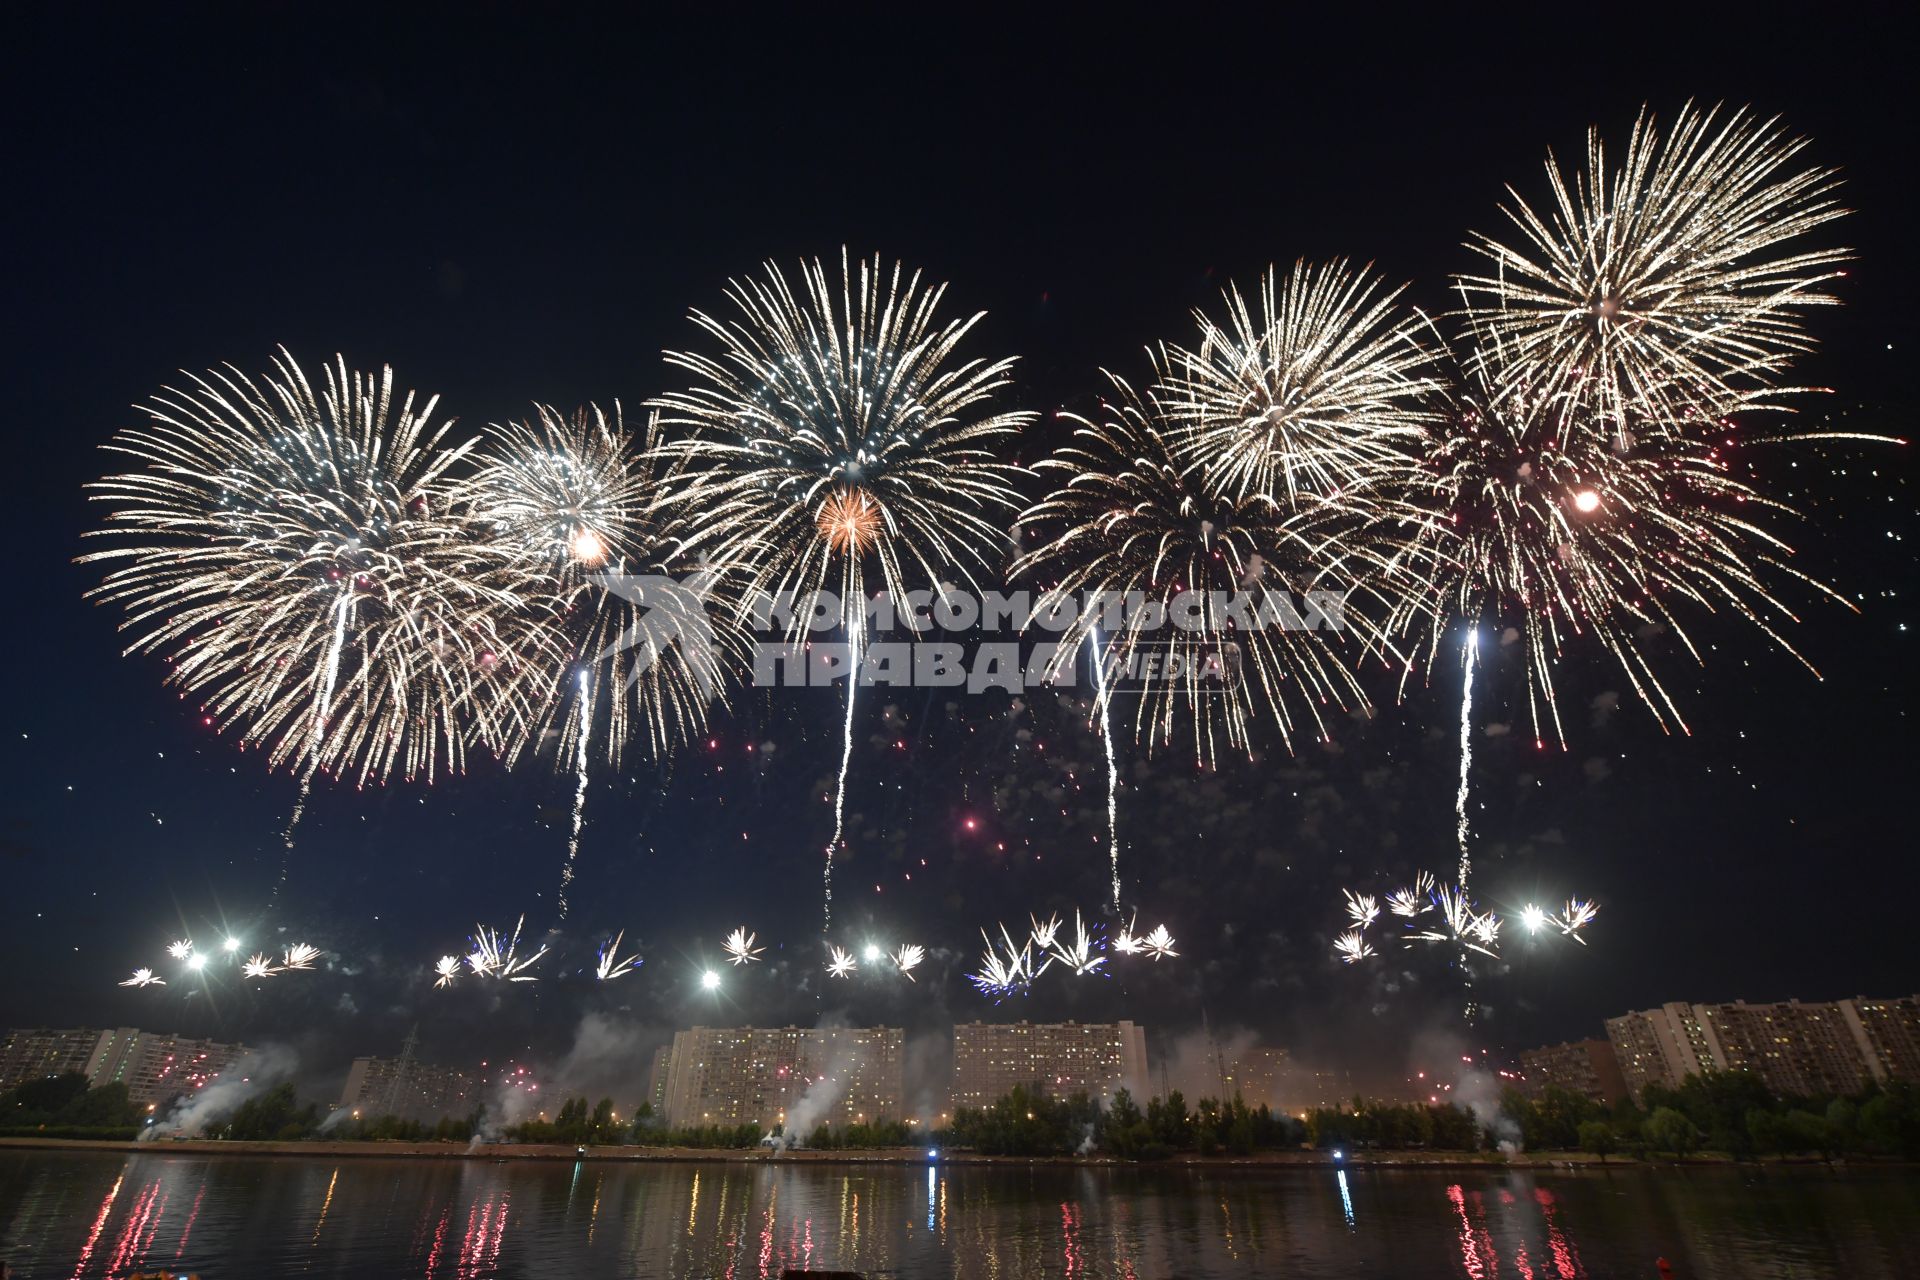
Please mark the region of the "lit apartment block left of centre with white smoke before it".
POLYGON ((674 1034, 662 1115, 672 1128, 906 1119, 899 1027, 695 1027, 674 1034))

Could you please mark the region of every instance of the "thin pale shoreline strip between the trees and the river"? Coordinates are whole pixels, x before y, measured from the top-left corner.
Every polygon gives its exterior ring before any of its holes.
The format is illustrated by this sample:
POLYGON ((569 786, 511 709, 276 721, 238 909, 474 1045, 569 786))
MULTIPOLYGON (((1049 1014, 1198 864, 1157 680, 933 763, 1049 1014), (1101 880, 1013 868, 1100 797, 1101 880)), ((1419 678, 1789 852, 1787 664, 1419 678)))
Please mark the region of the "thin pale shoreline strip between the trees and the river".
MULTIPOLYGON (((0 1151, 123 1151, 129 1155, 252 1155, 280 1159, 472 1159, 507 1161, 595 1161, 595 1163, 678 1163, 678 1165, 977 1165, 1031 1167, 1064 1165, 1075 1169, 1187 1169, 1187 1171, 1273 1171, 1273 1169, 1695 1169, 1728 1167, 1726 1155, 1693 1155, 1688 1159, 1634 1159, 1609 1155, 1601 1161, 1584 1151, 1361 1151, 1334 1159, 1325 1151, 1263 1151, 1260 1155, 1194 1155, 1179 1153, 1164 1161, 1123 1161, 1110 1155, 979 1155, 975 1151, 941 1151, 927 1148, 877 1148, 872 1151, 770 1151, 651 1146, 589 1146, 586 1151, 568 1144, 534 1142, 227 1142, 215 1138, 159 1138, 152 1142, 123 1142, 113 1138, 0 1138, 0 1151)), ((1801 1169, 1824 1165, 1818 1157, 1772 1159, 1766 1167, 1801 1169)), ((1855 1161, 1834 1161, 1851 1167, 1855 1161)), ((1905 1167, 1903 1161, 1860 1161, 1864 1167, 1905 1167)))

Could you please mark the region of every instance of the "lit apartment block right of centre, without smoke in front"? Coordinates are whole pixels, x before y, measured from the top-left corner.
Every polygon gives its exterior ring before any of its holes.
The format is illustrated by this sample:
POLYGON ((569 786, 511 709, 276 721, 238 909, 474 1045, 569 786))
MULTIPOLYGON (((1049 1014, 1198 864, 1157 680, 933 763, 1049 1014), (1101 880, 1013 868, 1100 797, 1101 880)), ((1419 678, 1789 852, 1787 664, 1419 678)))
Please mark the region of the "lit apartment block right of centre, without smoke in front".
POLYGON ((1016 1084, 1054 1098, 1144 1098, 1146 1032, 1137 1023, 960 1023, 952 1105, 989 1107, 1016 1084))

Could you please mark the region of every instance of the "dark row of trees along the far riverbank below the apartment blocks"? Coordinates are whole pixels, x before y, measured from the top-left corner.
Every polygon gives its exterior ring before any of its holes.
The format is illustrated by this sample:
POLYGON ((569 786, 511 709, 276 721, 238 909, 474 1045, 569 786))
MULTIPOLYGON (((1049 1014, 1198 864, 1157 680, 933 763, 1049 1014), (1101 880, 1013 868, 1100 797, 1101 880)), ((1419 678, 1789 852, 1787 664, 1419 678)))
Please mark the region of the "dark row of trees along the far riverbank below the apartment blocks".
MULTIPOLYGON (((161 1109, 163 1111, 163 1109, 161 1109)), ((88 1086, 69 1071, 29 1080, 0 1094, 0 1134, 115 1138, 140 1132, 150 1113, 132 1103, 125 1084, 88 1086)), ((486 1134, 486 1113, 419 1121, 397 1115, 326 1115, 301 1102, 290 1082, 263 1090, 205 1126, 209 1138, 242 1142, 468 1142, 486 1134)), ((499 1128, 511 1142, 572 1146, 674 1146, 691 1150, 756 1148, 781 1126, 756 1123, 668 1128, 641 1103, 618 1117, 611 1098, 588 1105, 568 1098, 553 1119, 536 1117, 499 1128)), ((1475 1117, 1455 1103, 1421 1105, 1354 1098, 1292 1117, 1238 1096, 1202 1098, 1192 1107, 1173 1090, 1142 1109, 1129 1090, 1110 1105, 1085 1092, 1052 1096, 1014 1088, 987 1107, 962 1107, 945 1130, 924 1132, 906 1121, 818 1125, 797 1146, 820 1151, 885 1150, 931 1142, 983 1155, 1110 1155, 1129 1161, 1175 1153, 1254 1155, 1304 1146, 1332 1150, 1480 1151, 1513 1144, 1528 1151, 1580 1150, 1693 1155, 1720 1151, 1734 1159, 1761 1155, 1885 1155, 1920 1159, 1920 1086, 1893 1082, 1845 1098, 1776 1098, 1759 1077, 1728 1071, 1690 1075, 1676 1088, 1647 1086, 1640 1098, 1607 1105, 1548 1084, 1538 1096, 1507 1088, 1500 1113, 1475 1117)))

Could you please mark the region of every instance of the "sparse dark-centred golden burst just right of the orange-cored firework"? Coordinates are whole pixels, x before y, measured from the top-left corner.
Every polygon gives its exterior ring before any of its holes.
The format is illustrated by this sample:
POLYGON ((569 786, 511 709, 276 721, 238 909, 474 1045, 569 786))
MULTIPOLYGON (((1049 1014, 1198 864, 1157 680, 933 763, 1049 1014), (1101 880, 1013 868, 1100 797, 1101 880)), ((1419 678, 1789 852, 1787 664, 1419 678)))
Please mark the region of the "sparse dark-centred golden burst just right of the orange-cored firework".
MULTIPOLYGON (((1156 372, 1165 363, 1156 357, 1156 372)), ((1379 568, 1359 537, 1373 518, 1371 497, 1290 507, 1212 491, 1175 453, 1175 424, 1158 391, 1108 380, 1114 393, 1096 418, 1062 415, 1077 424, 1073 439, 1035 468, 1058 484, 1020 516, 1021 530, 1041 541, 1014 562, 1014 574, 1046 585, 1043 612, 1073 618, 1054 666, 1087 649, 1100 716, 1114 672, 1139 672, 1146 662, 1165 672, 1142 687, 1133 712, 1135 741, 1150 750, 1190 733, 1196 760, 1212 764, 1223 748, 1250 750, 1260 722, 1288 747, 1298 733, 1327 737, 1329 708, 1367 699, 1331 647, 1331 631, 1308 629, 1294 593, 1329 593, 1348 628, 1371 645, 1386 643, 1361 616, 1386 614, 1384 604, 1363 610, 1350 593, 1379 568), (1173 628, 1102 631, 1104 610, 1079 608, 1133 593, 1160 608, 1192 604, 1198 616, 1183 610, 1173 628)))

